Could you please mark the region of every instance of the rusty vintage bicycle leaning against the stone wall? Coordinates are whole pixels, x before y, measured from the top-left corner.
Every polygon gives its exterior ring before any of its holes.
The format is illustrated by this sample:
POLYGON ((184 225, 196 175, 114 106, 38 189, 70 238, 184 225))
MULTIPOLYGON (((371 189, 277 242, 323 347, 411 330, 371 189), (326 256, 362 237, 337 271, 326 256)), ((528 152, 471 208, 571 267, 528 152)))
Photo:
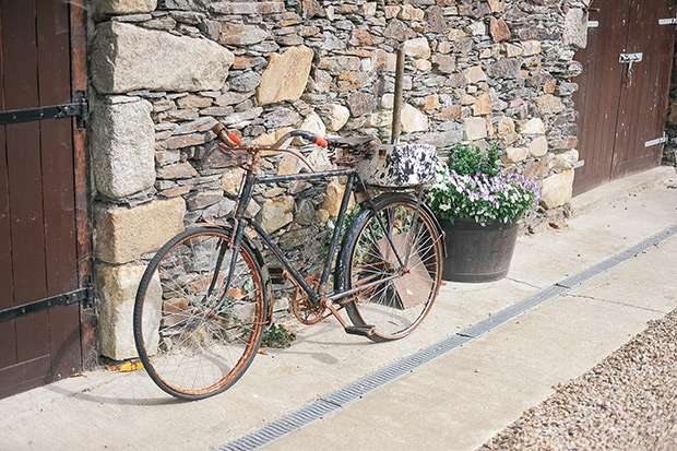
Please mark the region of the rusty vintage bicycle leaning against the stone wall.
POLYGON ((136 293, 134 340, 144 368, 161 389, 198 400, 231 387, 251 365, 272 323, 272 284, 285 280, 296 287, 292 307, 305 324, 333 316, 347 333, 375 342, 401 339, 420 324, 438 295, 444 252, 440 227, 423 202, 421 187, 435 174, 435 147, 379 146, 370 138, 328 143, 301 130, 266 147, 242 145, 221 123, 213 130, 224 152, 246 152, 237 207, 225 224, 199 226, 165 244, 136 293), (341 168, 259 175, 262 151, 304 159, 282 149, 297 137, 329 146, 341 168), (248 213, 248 205, 259 185, 332 177, 345 180, 345 191, 329 252, 321 274, 304 276, 248 213), (353 195, 359 210, 344 224, 353 195), (281 265, 264 261, 260 246, 281 265))

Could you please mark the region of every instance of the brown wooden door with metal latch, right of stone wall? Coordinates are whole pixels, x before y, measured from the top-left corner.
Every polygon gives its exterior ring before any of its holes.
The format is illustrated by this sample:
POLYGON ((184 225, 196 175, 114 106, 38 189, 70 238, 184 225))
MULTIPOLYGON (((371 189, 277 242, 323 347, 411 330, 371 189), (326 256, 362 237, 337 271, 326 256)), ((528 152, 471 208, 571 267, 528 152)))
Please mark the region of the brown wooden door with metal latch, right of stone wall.
POLYGON ((583 73, 574 95, 580 112, 574 194, 631 173, 658 166, 667 115, 675 43, 674 0, 594 0, 587 48, 577 54, 583 73), (620 54, 642 54, 642 61, 620 63, 620 54))

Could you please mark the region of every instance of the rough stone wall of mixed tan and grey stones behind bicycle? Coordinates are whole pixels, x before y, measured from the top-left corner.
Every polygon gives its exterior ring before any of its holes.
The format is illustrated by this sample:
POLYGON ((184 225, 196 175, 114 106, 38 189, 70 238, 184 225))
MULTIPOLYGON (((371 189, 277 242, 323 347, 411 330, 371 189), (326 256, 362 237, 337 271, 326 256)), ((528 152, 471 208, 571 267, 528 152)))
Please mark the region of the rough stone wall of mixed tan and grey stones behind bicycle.
MULTIPOLYGON (((235 206, 240 171, 216 150, 215 121, 245 142, 289 127, 389 141, 395 50, 406 54, 401 140, 498 143, 535 177, 544 209, 571 199, 578 159, 571 78, 585 45, 582 1, 95 0, 91 146, 102 354, 135 354, 139 268, 186 226, 235 206)), ((331 164, 313 146, 318 169, 331 164)), ((292 174, 288 156, 263 169, 292 174)), ((260 191, 251 212, 312 274, 341 186, 260 191)), ((545 210, 542 210, 542 213, 545 210)))

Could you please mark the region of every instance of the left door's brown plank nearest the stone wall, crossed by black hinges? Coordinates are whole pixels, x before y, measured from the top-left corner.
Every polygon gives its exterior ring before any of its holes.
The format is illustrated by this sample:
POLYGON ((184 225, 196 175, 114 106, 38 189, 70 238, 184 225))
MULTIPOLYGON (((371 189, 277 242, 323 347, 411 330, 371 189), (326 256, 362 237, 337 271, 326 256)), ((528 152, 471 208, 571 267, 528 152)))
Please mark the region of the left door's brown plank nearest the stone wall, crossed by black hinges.
MULTIPOLYGON (((66 103, 72 97, 69 5, 52 0, 36 5, 39 104, 66 103)), ((79 286, 71 120, 40 122, 40 155, 47 293, 54 296, 79 286)), ((59 379, 82 369, 80 309, 59 307, 48 314, 51 373, 59 379)))

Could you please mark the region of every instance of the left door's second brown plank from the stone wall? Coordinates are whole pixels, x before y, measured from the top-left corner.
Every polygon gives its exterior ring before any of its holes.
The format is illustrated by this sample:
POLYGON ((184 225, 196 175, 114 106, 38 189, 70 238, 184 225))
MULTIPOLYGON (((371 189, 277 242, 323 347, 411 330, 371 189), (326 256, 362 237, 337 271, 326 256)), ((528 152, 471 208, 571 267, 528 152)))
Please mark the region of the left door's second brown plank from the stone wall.
MULTIPOLYGON (((35 5, 2 3, 2 52, 4 107, 37 105, 37 49, 35 5)), ((11 207, 14 305, 46 296, 45 245, 43 237, 43 186, 38 123, 7 126, 7 164, 11 207)), ((48 314, 35 313, 16 320, 19 363, 49 355, 48 314)))

